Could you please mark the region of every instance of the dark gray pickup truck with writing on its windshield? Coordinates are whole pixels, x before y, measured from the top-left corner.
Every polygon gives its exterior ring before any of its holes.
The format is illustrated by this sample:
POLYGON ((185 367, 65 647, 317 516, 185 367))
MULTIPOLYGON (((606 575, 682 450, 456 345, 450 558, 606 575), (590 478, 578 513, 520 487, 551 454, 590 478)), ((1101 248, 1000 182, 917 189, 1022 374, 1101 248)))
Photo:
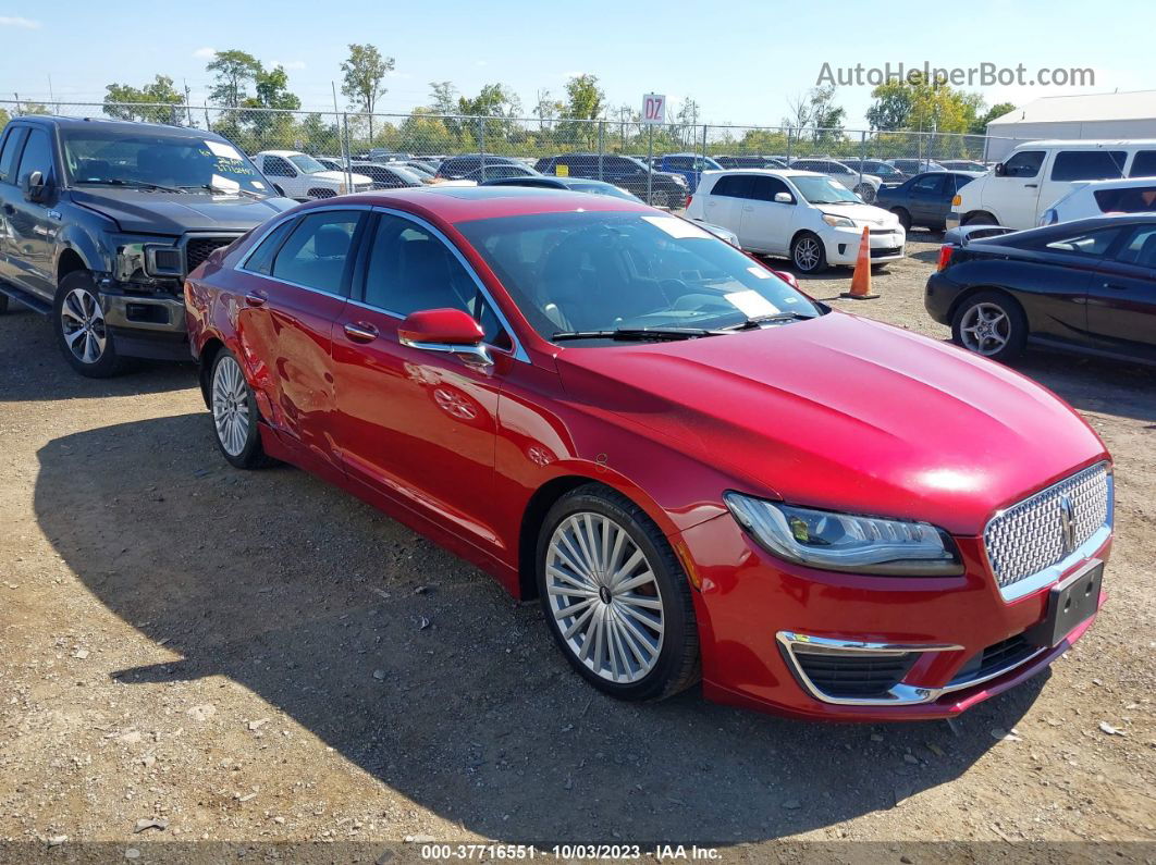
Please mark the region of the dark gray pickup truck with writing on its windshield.
POLYGON ((0 312, 50 315, 82 375, 188 359, 185 276, 294 203, 213 133, 17 117, 0 133, 0 312))

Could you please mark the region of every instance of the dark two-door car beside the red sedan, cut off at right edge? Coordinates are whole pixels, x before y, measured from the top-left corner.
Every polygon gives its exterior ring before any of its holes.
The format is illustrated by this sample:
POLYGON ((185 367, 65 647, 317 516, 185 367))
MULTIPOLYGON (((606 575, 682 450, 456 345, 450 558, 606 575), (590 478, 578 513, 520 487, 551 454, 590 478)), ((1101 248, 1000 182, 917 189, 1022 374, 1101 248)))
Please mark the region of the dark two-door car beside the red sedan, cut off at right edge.
POLYGON ((1156 215, 946 244, 924 303, 956 343, 995 360, 1031 343, 1156 364, 1156 215))

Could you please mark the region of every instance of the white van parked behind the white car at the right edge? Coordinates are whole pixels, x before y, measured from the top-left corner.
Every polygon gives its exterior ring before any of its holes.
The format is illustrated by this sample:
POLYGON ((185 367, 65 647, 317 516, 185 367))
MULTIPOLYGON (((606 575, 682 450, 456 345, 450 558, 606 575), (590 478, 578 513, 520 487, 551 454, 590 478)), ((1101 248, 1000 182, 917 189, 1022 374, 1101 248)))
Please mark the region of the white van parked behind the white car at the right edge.
POLYGON ((1156 177, 1156 141, 1032 141, 956 193, 949 229, 1031 229, 1082 180, 1156 177))

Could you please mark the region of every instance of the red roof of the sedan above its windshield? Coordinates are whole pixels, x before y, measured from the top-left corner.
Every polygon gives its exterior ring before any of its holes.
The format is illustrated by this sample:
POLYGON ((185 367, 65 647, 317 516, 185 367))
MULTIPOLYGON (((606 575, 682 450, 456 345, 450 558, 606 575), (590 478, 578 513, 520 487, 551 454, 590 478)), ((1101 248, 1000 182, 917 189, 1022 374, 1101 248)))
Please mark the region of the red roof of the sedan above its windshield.
MULTIPOLYGON (((578 211, 628 211, 659 215, 653 208, 610 195, 590 195, 568 189, 532 186, 422 186, 403 189, 363 192, 347 196, 358 203, 394 207, 447 223, 466 223, 503 216, 564 214, 578 211)), ((332 207, 335 199, 319 199, 303 204, 332 207)))

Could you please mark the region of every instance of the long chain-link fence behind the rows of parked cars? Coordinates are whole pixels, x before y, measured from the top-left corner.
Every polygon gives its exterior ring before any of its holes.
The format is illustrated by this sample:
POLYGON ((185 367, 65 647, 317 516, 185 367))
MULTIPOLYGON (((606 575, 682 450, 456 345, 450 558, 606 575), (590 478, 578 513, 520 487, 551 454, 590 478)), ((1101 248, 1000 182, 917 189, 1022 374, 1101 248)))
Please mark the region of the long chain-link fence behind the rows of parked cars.
MULTIPOLYGON (((484 181, 540 171, 602 180, 677 208, 703 170, 800 167, 820 171, 872 200, 883 184, 944 165, 985 170, 1011 139, 936 132, 877 132, 703 124, 645 125, 637 118, 465 117, 166 105, 0 100, 5 115, 61 114, 209 129, 250 156, 297 151, 327 170, 369 174, 378 188, 484 181), (388 177, 372 165, 403 167, 388 177)), ((275 180, 275 177, 273 178, 275 180)))

